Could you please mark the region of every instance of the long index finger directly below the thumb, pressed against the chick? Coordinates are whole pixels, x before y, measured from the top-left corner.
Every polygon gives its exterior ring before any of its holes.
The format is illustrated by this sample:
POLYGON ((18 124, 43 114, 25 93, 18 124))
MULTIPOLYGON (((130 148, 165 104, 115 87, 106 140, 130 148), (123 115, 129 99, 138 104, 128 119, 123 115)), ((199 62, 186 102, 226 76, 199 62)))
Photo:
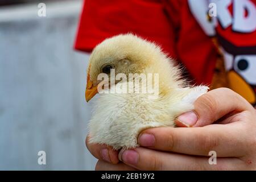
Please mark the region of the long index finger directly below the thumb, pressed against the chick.
POLYGON ((249 147, 242 122, 205 127, 158 127, 142 131, 138 142, 143 147, 181 154, 208 156, 216 151, 219 157, 243 156, 249 147), (239 135, 239 136, 238 136, 239 135))

